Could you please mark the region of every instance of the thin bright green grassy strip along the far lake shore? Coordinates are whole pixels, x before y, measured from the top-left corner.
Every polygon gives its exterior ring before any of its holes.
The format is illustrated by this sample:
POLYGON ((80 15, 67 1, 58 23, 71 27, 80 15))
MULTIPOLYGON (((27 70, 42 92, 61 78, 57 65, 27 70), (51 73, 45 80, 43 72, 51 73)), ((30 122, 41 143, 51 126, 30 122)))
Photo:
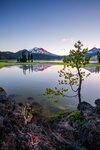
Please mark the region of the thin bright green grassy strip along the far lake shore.
MULTIPOLYGON (((39 62, 39 61, 34 61, 34 62, 9 62, 9 61, 0 61, 0 68, 7 66, 7 65, 31 65, 31 64, 51 64, 51 65, 63 65, 63 62, 55 62, 55 61, 46 61, 46 62, 39 62)), ((86 66, 100 66, 100 63, 90 63, 87 64, 86 66)))

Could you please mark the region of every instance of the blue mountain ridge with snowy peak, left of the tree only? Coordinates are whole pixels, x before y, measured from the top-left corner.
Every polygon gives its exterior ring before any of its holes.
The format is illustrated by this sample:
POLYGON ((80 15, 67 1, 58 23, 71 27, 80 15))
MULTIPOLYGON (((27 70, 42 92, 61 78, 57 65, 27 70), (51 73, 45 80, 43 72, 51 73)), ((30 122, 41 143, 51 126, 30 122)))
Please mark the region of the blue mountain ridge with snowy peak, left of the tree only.
POLYGON ((50 53, 43 48, 35 47, 30 50, 22 49, 17 52, 10 52, 10 51, 0 52, 0 59, 18 59, 19 57, 22 56, 23 51, 25 52, 27 57, 28 54, 32 53, 34 60, 55 60, 55 59, 59 60, 63 58, 62 56, 50 53))

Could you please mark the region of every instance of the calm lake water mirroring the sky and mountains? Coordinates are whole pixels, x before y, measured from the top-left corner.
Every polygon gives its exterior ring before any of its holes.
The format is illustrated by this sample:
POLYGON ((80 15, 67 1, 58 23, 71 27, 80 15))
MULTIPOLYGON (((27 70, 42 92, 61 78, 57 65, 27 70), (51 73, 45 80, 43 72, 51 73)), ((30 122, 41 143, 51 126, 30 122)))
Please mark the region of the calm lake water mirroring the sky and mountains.
MULTIPOLYGON (((77 97, 58 97, 58 103, 48 102, 43 96, 47 87, 59 86, 58 71, 63 65, 35 64, 14 65, 0 69, 0 86, 8 95, 17 102, 33 101, 44 107, 47 115, 60 112, 61 110, 76 110, 77 97)), ((82 100, 94 105, 94 101, 100 98, 100 67, 86 67, 90 76, 83 81, 82 100)), ((69 95, 73 95, 69 90, 69 95)))

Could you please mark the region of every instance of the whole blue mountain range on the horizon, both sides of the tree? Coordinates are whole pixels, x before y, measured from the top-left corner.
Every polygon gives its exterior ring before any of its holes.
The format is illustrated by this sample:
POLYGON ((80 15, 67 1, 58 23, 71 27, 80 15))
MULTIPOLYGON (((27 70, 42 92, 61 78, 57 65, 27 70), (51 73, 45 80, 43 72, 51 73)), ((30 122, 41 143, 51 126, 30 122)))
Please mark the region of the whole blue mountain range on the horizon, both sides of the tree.
MULTIPOLYGON (((29 50, 22 49, 17 52, 0 51, 0 59, 18 59, 19 57, 21 57, 23 51, 25 51, 27 56, 29 53, 32 53, 34 60, 54 60, 54 59, 61 60, 67 56, 67 55, 60 56, 57 54, 53 54, 43 48, 34 47, 29 50)), ((92 49, 88 50, 88 52, 85 54, 85 56, 96 57, 97 52, 100 53, 100 48, 93 47, 92 49)))

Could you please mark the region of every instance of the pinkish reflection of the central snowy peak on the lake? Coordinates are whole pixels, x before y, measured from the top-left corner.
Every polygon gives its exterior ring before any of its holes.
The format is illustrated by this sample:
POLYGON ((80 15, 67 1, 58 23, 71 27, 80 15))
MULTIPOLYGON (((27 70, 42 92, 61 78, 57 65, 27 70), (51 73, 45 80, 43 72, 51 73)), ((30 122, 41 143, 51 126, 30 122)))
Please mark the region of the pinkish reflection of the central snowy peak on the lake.
POLYGON ((38 72, 44 71, 48 67, 51 67, 50 64, 34 64, 34 65, 20 65, 19 68, 23 70, 23 74, 26 75, 27 71, 31 72, 38 72))

